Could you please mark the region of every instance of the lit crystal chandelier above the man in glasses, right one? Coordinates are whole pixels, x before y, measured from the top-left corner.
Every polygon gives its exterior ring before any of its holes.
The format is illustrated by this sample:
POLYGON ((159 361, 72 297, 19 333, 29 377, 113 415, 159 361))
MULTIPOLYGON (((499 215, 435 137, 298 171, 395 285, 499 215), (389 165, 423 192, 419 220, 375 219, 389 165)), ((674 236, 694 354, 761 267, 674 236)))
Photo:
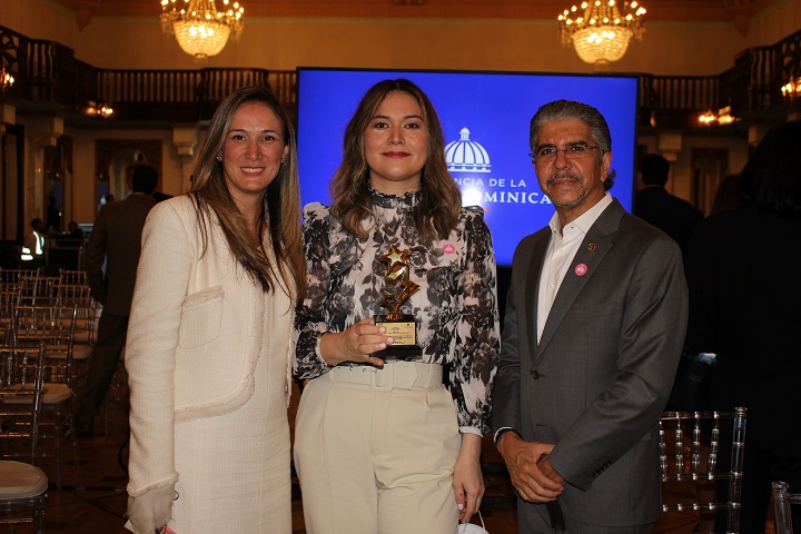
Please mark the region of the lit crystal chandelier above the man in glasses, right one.
POLYGON ((635 0, 592 0, 581 8, 573 6, 558 16, 562 44, 573 46, 587 63, 606 65, 617 61, 629 48, 632 37, 640 40, 644 28, 642 16, 645 8, 635 0), (622 11, 622 12, 621 12, 622 11))

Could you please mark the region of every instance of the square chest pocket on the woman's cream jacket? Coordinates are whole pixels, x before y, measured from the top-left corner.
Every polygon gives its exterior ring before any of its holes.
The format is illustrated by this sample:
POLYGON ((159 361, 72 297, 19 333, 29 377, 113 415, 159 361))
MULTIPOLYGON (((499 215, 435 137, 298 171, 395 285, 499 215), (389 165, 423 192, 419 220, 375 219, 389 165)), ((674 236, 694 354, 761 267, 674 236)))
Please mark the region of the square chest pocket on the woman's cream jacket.
POLYGON ((187 295, 181 305, 178 347, 195 348, 219 337, 222 325, 222 286, 187 295))

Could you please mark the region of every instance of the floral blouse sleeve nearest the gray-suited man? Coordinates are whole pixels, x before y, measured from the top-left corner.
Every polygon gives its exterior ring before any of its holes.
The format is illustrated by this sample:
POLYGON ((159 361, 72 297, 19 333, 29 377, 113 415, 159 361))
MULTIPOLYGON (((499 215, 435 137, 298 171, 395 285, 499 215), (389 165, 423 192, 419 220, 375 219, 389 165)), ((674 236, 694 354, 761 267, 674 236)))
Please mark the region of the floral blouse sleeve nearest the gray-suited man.
POLYGON ((497 273, 492 235, 481 208, 465 208, 464 270, 458 285, 459 318, 451 370, 451 392, 462 432, 483 435, 491 427, 492 386, 501 348, 497 273))

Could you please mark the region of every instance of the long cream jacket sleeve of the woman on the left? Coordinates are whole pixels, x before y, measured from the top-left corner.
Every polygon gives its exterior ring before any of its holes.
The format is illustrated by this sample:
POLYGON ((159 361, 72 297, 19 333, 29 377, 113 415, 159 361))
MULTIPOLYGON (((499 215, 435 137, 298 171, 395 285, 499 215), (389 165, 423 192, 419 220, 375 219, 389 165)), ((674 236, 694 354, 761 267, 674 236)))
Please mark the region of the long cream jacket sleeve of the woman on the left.
POLYGON ((128 493, 132 497, 178 479, 174 455, 174 373, 181 304, 197 250, 176 205, 159 204, 145 224, 128 325, 125 357, 131 406, 128 493))

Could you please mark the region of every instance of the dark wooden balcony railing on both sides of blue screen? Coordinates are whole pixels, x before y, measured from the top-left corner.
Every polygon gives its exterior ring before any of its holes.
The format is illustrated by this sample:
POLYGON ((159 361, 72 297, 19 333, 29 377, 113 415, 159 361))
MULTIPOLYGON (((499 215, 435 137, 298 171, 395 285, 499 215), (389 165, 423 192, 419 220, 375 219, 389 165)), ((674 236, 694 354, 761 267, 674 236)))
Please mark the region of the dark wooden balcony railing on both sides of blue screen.
MULTIPOLYGON (((209 119, 233 89, 270 87, 290 112, 297 107, 296 72, 265 69, 109 70, 75 59, 57 42, 29 39, 0 26, 0 57, 16 78, 6 96, 81 111, 111 103, 115 120, 195 121, 209 119)), ((780 110, 781 86, 801 76, 801 30, 770 47, 748 49, 734 66, 712 76, 640 77, 644 123, 691 127, 699 111, 731 106, 738 117, 780 110)))

